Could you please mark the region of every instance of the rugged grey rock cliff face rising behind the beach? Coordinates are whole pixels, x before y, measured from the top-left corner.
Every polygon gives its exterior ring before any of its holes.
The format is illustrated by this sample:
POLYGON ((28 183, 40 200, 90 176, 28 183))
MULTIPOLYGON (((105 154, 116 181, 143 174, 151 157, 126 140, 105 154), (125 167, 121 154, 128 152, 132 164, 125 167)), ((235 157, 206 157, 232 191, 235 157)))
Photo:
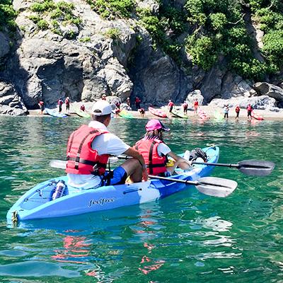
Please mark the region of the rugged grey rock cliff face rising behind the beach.
MULTIPOLYGON (((0 32, 1 113, 23 115, 26 108, 37 108, 39 100, 52 107, 67 96, 72 101, 93 101, 106 94, 122 101, 139 96, 148 105, 162 105, 169 99, 180 103, 190 100, 195 90, 200 90, 197 95, 204 103, 215 98, 270 96, 272 107, 282 105, 282 81, 278 86, 253 85, 228 71, 224 59, 204 71, 192 65, 185 50, 180 50, 184 64, 177 64, 154 47, 135 15, 106 20, 86 1, 69 0, 64 3, 72 5, 71 20, 65 21, 64 10, 54 6, 62 12, 55 21, 51 12, 37 13, 33 3, 13 1, 18 11, 16 33, 11 37, 5 30, 0 32)), ((159 8, 154 0, 136 4, 153 13, 159 8)))

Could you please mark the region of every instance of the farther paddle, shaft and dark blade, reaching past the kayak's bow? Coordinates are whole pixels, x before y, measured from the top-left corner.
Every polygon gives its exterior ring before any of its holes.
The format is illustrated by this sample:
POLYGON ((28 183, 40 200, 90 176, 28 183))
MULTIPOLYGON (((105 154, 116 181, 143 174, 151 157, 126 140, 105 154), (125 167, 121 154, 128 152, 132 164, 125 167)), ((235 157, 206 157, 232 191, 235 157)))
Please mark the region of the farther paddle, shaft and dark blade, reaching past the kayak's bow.
POLYGON ((267 176, 270 175, 272 170, 275 168, 275 163, 271 161, 264 160, 243 160, 237 164, 228 164, 228 163, 204 163, 204 162, 195 162, 192 164, 200 164, 207 166, 219 166, 219 167, 229 167, 237 168, 238 171, 253 176, 267 176))

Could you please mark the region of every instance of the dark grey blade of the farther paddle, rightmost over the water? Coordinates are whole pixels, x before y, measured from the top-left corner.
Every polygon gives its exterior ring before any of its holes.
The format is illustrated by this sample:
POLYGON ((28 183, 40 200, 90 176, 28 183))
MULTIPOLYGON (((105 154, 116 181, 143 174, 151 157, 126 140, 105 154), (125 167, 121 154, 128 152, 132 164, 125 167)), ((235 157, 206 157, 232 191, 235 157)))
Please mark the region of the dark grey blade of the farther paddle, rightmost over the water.
POLYGON ((238 163, 238 170, 246 175, 267 176, 275 168, 275 163, 263 160, 243 160, 238 163))

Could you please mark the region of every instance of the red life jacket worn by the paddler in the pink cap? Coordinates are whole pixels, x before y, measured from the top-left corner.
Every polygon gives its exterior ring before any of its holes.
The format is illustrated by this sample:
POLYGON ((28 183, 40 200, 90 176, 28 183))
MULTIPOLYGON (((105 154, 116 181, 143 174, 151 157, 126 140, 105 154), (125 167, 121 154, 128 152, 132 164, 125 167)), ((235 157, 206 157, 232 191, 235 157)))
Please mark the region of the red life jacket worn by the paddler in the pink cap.
POLYGON ((144 156, 147 172, 151 175, 159 175, 166 172, 166 156, 159 156, 157 151, 158 144, 163 141, 159 139, 141 139, 136 143, 136 149, 144 156))

